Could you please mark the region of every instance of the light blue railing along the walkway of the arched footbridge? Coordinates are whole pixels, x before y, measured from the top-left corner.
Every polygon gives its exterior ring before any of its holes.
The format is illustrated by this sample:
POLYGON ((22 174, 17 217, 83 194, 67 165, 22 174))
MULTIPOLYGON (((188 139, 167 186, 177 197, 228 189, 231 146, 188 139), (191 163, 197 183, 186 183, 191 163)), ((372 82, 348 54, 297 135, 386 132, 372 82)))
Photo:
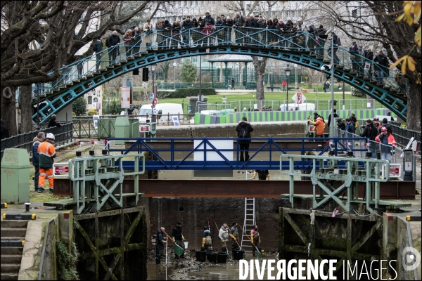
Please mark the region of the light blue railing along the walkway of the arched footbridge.
MULTIPOLYGON (((44 86, 38 92, 43 94, 60 88, 72 81, 86 77, 108 66, 119 64, 132 55, 139 55, 143 51, 167 48, 193 48, 197 46, 252 46, 267 49, 283 49, 290 51, 309 51, 319 58, 331 58, 331 43, 315 37, 307 32, 280 32, 279 30, 258 29, 250 27, 205 27, 190 28, 178 31, 150 30, 139 37, 112 48, 106 48, 99 53, 78 60, 60 68, 62 74, 59 79, 44 86), (149 46, 141 45, 145 37, 149 37, 149 46)), ((378 68, 385 76, 385 84, 406 91, 406 79, 396 69, 377 65, 373 60, 360 55, 352 55, 347 48, 334 46, 335 64, 343 65, 366 77, 373 76, 373 67, 378 68), (369 66, 369 69, 367 68, 369 66)), ((49 75, 53 72, 49 73, 49 75)))

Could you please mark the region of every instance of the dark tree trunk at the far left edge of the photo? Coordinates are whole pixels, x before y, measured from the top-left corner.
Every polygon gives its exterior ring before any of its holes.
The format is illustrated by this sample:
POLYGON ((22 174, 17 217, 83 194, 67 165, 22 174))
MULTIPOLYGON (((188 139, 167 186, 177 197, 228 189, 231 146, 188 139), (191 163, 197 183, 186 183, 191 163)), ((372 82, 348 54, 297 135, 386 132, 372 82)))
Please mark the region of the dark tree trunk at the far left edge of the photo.
POLYGON ((1 119, 6 122, 9 136, 18 134, 15 99, 15 87, 1 88, 1 119))

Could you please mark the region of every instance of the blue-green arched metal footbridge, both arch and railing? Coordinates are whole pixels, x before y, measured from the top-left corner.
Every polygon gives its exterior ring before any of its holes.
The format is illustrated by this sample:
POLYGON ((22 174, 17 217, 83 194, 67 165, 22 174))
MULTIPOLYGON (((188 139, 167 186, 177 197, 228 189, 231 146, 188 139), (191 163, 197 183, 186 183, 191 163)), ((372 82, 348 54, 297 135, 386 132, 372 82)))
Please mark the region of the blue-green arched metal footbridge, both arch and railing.
MULTIPOLYGON (((39 123, 47 122, 51 115, 63 110, 76 98, 111 79, 166 60, 196 55, 243 54, 284 60, 317 71, 331 62, 330 41, 317 39, 307 32, 290 34, 246 27, 192 28, 177 34, 152 30, 133 39, 129 45, 124 45, 125 51, 120 50, 123 50, 122 46, 108 48, 102 51, 98 60, 96 55, 91 55, 61 68, 60 79, 49 87, 37 90, 39 102, 46 102, 39 110, 39 123), (142 40, 151 43, 143 46, 142 40), (82 73, 84 69, 88 71, 82 73), (70 73, 76 70, 78 74, 72 77, 70 73)), ((407 96, 404 94, 406 83, 397 82, 400 79, 405 81, 402 74, 380 67, 385 73, 385 83, 378 84, 365 69, 366 63, 373 65, 373 61, 359 55, 350 55, 347 49, 340 46, 334 46, 334 60, 335 79, 345 81, 378 100, 400 118, 407 119, 407 96)), ((331 74, 331 70, 324 72, 331 74)), ((32 105, 37 106, 37 103, 35 96, 32 105)), ((32 121, 37 123, 37 113, 32 116, 32 121)))

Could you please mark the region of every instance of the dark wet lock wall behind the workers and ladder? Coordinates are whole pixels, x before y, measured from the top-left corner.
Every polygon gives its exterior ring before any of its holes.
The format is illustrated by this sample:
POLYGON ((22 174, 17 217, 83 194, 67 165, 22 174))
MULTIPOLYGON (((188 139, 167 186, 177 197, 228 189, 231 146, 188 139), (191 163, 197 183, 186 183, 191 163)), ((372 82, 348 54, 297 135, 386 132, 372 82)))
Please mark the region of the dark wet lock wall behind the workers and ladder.
MULTIPOLYGON (((198 184, 200 182, 198 181, 198 184)), ((236 184, 236 183, 234 183, 236 184)), ((200 188, 198 186, 198 188, 200 188)), ((223 223, 231 227, 237 221, 243 228, 245 216, 245 198, 149 198, 150 223, 149 235, 156 234, 160 226, 168 235, 177 221, 183 224, 183 235, 189 242, 188 249, 200 249, 203 227, 210 221, 212 247, 221 249, 218 230, 223 223), (218 229, 214 221, 217 223, 218 229)), ((278 212, 286 200, 255 198, 255 222, 261 235, 261 247, 264 251, 276 251, 279 247, 278 212)), ((290 204, 286 202, 286 204, 290 204)), ((238 228, 241 235, 241 228, 238 228)), ((249 233, 248 233, 249 235, 249 233)), ((149 239, 151 241, 151 239, 149 239)), ((250 242, 244 242, 250 245, 250 242)), ((231 244, 228 245, 231 250, 231 244)))

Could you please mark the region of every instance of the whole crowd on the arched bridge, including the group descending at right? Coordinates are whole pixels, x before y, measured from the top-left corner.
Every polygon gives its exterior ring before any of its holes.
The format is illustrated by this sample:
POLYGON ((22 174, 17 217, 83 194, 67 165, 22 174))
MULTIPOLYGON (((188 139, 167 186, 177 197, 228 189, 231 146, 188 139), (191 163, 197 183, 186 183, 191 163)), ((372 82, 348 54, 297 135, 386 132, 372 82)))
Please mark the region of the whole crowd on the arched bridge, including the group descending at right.
MULTIPOLYGON (((266 19, 257 14, 243 17, 240 13, 235 13, 233 16, 218 15, 217 18, 214 18, 209 12, 205 12, 205 15, 199 18, 186 16, 174 20, 174 22, 160 18, 153 24, 151 19, 148 19, 142 26, 133 26, 127 30, 122 39, 117 31, 112 32, 104 41, 106 47, 111 48, 109 64, 115 63, 117 56, 120 55, 119 48, 113 47, 122 44, 125 47, 126 56, 130 56, 141 51, 142 41, 147 48, 153 45, 158 50, 219 45, 306 49, 320 58, 324 58, 326 42, 333 41, 335 64, 340 63, 337 51, 338 46, 342 46, 342 42, 335 32, 327 31, 323 25, 304 26, 302 20, 293 22, 293 20, 279 20, 278 18, 266 19), (143 33, 144 35, 141 36, 143 33)), ((101 53, 102 50, 100 47, 94 47, 97 59, 101 58, 98 53, 101 53)), ((390 63, 383 51, 378 51, 374 55, 371 48, 366 50, 364 46, 357 46, 356 41, 353 41, 349 48, 349 54, 350 67, 354 72, 377 79, 379 84, 384 83, 383 77, 388 76, 390 63)), ((327 55, 331 56, 331 48, 328 48, 327 55)), ((399 81, 399 79, 396 80, 399 81)))

